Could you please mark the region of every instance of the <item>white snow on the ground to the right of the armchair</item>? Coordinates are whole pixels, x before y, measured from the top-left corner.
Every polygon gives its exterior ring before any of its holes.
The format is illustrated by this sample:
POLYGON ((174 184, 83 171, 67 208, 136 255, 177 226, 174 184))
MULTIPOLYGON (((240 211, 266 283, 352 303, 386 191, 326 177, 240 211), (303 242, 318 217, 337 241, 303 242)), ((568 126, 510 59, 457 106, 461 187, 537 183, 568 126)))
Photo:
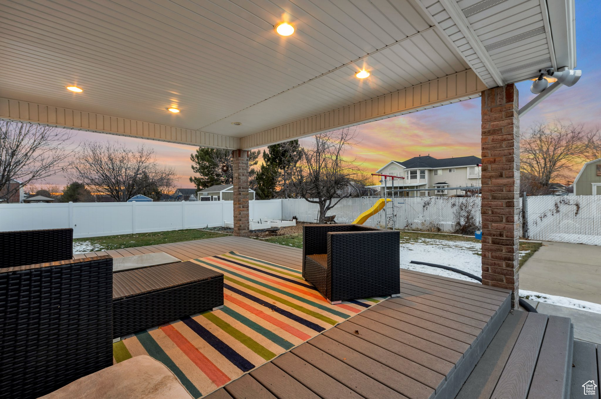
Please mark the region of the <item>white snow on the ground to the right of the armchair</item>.
MULTIPOLYGON (((452 272, 450 270, 409 263, 411 260, 418 260, 419 262, 451 266, 451 268, 460 269, 477 275, 478 277, 482 277, 481 248, 479 242, 420 238, 417 242, 401 244, 400 250, 401 268, 403 269, 457 278, 459 280, 475 281, 463 274, 452 272)), ((523 256, 526 252, 527 251, 520 251, 520 256, 523 256)), ((531 299, 532 301, 545 302, 547 304, 601 313, 600 304, 579 301, 578 299, 566 298, 564 296, 520 290, 520 297, 531 299)))

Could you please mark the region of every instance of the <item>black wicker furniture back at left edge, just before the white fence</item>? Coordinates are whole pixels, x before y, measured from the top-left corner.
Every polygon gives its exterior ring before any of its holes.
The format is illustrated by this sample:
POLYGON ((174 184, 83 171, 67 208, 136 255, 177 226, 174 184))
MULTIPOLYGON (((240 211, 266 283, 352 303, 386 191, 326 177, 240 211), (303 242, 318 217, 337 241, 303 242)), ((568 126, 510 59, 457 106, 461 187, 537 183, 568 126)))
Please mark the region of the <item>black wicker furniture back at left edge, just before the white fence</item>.
POLYGON ((73 257, 73 229, 0 232, 0 267, 35 265, 73 257))

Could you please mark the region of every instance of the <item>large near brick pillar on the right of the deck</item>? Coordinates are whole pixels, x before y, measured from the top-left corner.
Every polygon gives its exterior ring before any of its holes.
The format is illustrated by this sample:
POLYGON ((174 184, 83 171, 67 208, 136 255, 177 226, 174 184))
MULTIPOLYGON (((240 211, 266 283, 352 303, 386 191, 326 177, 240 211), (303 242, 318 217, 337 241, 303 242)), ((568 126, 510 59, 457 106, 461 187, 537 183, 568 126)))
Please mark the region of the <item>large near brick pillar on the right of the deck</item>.
POLYGON ((513 291, 517 308, 520 148, 517 88, 482 92, 482 284, 513 291))

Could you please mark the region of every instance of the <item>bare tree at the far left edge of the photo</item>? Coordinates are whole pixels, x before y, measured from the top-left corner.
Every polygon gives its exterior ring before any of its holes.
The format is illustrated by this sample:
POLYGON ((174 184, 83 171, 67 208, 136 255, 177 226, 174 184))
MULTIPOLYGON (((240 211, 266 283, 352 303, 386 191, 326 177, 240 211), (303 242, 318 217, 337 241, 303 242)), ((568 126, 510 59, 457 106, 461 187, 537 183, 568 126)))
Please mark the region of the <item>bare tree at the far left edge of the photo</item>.
POLYGON ((44 181, 71 167, 69 130, 0 121, 0 193, 10 198, 25 185, 44 181), (10 184, 11 180, 21 184, 10 184))

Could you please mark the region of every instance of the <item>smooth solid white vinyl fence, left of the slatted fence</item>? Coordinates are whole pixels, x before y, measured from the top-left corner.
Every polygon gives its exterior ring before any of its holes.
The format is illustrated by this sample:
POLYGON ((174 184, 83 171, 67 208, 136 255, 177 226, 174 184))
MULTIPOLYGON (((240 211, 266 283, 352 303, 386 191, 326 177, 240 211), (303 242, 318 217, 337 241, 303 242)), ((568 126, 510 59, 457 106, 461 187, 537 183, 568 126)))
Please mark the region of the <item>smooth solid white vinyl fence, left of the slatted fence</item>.
MULTIPOLYGON (((232 201, 15 203, 0 205, 0 231, 73 227, 75 238, 224 226, 232 201)), ((251 219, 282 218, 281 200, 249 201, 251 219)))

